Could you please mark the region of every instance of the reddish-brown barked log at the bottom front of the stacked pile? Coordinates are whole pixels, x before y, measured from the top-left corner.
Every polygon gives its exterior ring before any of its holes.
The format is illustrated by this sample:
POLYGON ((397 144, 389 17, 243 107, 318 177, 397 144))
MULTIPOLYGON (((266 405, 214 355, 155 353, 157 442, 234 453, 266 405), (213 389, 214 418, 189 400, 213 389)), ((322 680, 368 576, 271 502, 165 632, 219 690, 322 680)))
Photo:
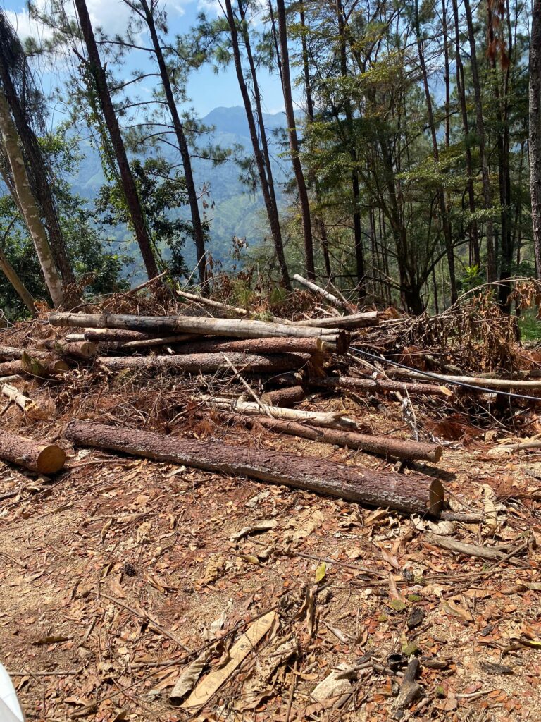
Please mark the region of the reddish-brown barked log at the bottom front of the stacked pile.
MULTIPOLYGON (((239 371, 279 372, 298 369, 307 364, 307 354, 229 354, 239 371)), ((110 371, 172 371, 175 373, 210 373, 231 369, 223 354, 177 354, 175 356, 100 356, 97 361, 110 371)))

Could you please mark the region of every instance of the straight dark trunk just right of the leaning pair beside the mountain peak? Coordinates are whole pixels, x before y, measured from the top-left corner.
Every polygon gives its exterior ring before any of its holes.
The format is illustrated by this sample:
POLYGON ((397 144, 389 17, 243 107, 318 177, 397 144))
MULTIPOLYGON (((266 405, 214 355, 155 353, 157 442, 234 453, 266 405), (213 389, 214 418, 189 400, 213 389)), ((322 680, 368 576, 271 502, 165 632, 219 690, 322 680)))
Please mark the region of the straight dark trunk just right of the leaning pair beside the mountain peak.
POLYGON ((289 149, 291 151, 291 163, 295 173, 296 188, 299 193, 299 204, 301 206, 302 235, 304 238, 304 261, 309 280, 315 280, 314 266, 314 243, 312 240, 312 220, 310 219, 310 205, 308 191, 304 181, 301 157, 299 155, 299 139, 296 134, 295 111, 293 98, 291 97, 291 77, 289 74, 289 48, 287 46, 286 27, 286 6, 283 0, 276 0, 278 14, 278 35, 280 37, 280 62, 282 69, 282 90, 283 103, 286 106, 286 119, 289 134, 289 149))

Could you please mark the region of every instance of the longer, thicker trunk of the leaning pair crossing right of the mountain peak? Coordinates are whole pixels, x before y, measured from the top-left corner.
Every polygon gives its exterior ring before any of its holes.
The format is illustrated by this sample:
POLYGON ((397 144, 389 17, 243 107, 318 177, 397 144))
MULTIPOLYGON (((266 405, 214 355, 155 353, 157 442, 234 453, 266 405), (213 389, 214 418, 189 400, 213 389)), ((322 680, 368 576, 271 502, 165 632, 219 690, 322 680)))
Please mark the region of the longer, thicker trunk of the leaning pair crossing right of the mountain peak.
POLYGON ((237 30, 237 23, 233 14, 233 8, 231 0, 224 0, 226 7, 226 19, 229 25, 229 35, 231 36, 231 43, 233 49, 233 58, 235 71, 237 73, 237 81, 239 83, 240 93, 242 95, 242 102, 245 106, 246 118, 248 122, 248 129, 250 130, 250 139, 252 141, 252 148, 255 155, 255 162, 258 166, 258 173, 260 178, 261 191, 263 193, 263 200, 265 201, 265 208, 267 210, 268 222, 271 226, 271 233, 274 241, 274 248, 276 251, 276 257, 278 258, 278 266, 280 266, 281 276, 283 285, 287 290, 291 290, 291 281, 289 279, 289 271, 286 264, 286 256, 283 253, 283 242, 282 234, 280 229, 280 220, 278 219, 278 208, 276 202, 273 203, 271 193, 268 187, 268 179, 265 173, 265 159, 261 152, 261 147, 258 139, 258 131, 255 127, 255 118, 252 110, 252 103, 250 103, 250 95, 248 93, 244 73, 242 71, 242 59, 240 56, 239 48, 239 32, 237 30))

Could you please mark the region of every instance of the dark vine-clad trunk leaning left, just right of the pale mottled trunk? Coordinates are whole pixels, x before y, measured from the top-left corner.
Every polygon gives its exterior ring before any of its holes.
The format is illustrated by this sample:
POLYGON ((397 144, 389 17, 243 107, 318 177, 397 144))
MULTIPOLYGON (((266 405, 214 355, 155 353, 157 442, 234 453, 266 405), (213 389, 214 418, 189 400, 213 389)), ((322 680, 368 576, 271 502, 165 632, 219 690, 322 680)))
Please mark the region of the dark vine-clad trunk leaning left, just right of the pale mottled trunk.
POLYGON ((139 200, 137 193, 136 183, 133 180, 133 175, 131 173, 128 156, 126 155, 126 147, 124 146, 122 134, 120 134, 118 118, 116 117, 113 101, 111 100, 109 88, 107 87, 107 77, 105 75, 105 69, 102 66, 100 53, 98 53, 97 50, 94 30, 92 30, 92 23, 90 22, 87 5, 84 0, 74 0, 74 4, 79 16, 84 44, 87 48, 89 69, 94 77, 97 94, 100 98, 102 113, 105 118, 107 130, 109 131, 111 143, 113 144, 113 149, 115 151, 123 192, 126 198, 126 205, 128 206, 128 212, 131 216, 131 222, 133 223, 133 230, 135 231, 137 242, 139 248, 141 249, 141 256, 143 256, 146 274, 149 278, 154 278, 158 275, 158 267, 156 265, 154 253, 152 252, 151 238, 144 218, 143 209, 141 208, 141 201, 139 200))

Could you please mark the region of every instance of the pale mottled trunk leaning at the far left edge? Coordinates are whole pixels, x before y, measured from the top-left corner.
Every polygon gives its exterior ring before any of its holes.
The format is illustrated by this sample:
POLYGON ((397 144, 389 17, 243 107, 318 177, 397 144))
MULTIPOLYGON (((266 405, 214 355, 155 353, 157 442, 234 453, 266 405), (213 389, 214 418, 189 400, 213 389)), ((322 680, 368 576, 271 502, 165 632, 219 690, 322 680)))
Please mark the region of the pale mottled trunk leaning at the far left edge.
POLYGON ((50 297, 54 305, 59 306, 63 303, 64 292, 58 269, 54 262, 53 254, 50 251, 47 233, 41 221, 40 210, 32 191, 26 172, 25 160, 22 157, 22 151, 19 147, 19 139, 17 137, 17 129, 9 113, 9 105, 4 92, 0 90, 0 132, 4 142, 4 149, 9 161, 9 167, 12 172, 12 180, 14 190, 19 199, 19 207, 25 218, 25 223, 30 231, 32 241, 34 242, 36 253, 40 261, 41 270, 45 277, 50 297))

